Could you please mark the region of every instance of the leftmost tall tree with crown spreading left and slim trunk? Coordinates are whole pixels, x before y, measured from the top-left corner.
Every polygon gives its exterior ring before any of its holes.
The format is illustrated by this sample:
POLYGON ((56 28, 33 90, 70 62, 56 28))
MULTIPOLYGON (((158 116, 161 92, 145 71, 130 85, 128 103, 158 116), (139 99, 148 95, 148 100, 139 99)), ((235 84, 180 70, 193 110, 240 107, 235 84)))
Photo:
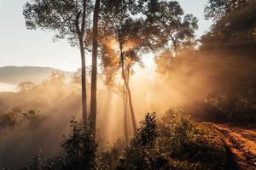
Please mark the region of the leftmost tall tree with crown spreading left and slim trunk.
POLYGON ((28 29, 42 28, 55 31, 56 38, 67 37, 69 42, 80 48, 82 65, 82 114, 87 122, 85 83, 86 30, 90 26, 91 1, 87 0, 32 0, 27 2, 23 14, 28 29))

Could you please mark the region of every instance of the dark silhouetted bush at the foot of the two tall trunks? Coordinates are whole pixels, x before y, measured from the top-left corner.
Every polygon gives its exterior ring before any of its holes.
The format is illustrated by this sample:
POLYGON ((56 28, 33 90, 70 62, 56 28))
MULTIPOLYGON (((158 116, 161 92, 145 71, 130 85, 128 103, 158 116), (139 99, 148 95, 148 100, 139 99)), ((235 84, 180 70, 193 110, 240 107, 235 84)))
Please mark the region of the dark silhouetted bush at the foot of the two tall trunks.
POLYGON ((71 133, 63 137, 61 147, 63 156, 43 160, 40 155, 34 157, 33 161, 26 167, 18 167, 17 170, 82 170, 96 169, 96 147, 94 137, 90 128, 83 122, 74 119, 70 122, 71 133))

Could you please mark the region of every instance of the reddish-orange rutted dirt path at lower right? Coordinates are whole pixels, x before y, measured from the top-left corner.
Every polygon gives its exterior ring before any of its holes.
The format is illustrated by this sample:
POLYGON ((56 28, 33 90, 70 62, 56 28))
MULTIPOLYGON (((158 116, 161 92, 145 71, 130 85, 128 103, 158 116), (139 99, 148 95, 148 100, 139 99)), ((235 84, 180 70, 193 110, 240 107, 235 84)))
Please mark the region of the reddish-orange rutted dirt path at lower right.
POLYGON ((210 126, 223 137, 224 143, 242 170, 256 170, 256 130, 212 123, 210 126))

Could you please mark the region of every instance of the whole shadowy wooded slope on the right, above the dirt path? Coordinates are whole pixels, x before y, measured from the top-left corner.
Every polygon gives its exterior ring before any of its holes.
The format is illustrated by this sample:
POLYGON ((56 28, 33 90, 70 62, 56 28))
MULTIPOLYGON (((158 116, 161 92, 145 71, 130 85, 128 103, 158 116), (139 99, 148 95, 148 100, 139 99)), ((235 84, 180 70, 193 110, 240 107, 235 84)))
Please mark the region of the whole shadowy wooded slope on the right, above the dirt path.
POLYGON ((182 107, 191 115, 255 127, 255 8, 254 0, 209 0, 205 17, 213 24, 199 48, 191 44, 175 57, 169 49, 156 57, 160 75, 186 84, 189 94, 182 92, 193 105, 182 107))

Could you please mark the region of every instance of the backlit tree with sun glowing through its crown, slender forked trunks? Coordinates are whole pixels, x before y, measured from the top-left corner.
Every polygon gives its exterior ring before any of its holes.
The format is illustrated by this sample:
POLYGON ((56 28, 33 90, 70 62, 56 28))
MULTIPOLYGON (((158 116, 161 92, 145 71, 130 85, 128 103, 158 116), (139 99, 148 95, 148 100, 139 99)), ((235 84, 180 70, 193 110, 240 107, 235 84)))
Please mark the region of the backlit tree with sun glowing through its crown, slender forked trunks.
POLYGON ((133 132, 137 131, 136 117, 131 99, 129 85, 132 66, 142 64, 140 56, 147 51, 148 39, 143 35, 143 18, 135 19, 129 8, 132 1, 102 1, 101 44, 102 67, 107 81, 112 82, 120 70, 123 80, 123 95, 125 107, 125 138, 128 139, 127 113, 131 111, 133 132))

